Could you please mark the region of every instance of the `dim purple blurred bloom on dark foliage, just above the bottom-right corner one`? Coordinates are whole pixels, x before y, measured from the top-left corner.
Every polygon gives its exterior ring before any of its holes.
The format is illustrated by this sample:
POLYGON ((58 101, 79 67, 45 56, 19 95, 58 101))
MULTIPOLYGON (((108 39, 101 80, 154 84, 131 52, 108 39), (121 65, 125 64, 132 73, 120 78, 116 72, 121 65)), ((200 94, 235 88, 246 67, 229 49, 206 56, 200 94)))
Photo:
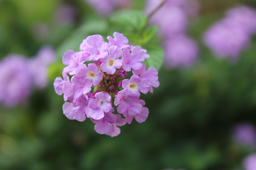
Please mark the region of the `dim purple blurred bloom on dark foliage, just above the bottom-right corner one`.
POLYGON ((233 139, 246 147, 256 146, 256 128, 252 124, 242 123, 232 129, 233 139))

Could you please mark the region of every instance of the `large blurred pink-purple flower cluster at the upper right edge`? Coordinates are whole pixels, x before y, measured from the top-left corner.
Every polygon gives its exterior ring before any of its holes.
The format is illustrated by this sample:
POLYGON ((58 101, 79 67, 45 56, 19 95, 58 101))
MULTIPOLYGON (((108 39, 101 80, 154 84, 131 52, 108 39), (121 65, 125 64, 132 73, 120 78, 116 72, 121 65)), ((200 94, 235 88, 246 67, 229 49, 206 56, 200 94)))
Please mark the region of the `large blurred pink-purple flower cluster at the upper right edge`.
POLYGON ((205 31, 206 46, 220 58, 237 60, 256 32, 256 10, 247 6, 229 9, 225 18, 205 31))

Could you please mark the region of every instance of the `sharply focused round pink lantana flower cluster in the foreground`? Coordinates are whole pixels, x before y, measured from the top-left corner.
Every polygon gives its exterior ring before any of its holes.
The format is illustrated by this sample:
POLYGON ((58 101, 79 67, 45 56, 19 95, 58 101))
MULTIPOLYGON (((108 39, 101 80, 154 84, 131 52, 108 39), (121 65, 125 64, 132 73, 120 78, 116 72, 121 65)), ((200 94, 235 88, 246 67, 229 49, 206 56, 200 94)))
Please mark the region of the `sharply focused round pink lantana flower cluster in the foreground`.
POLYGON ((91 35, 81 43, 81 51, 66 51, 62 62, 67 66, 63 78, 55 79, 54 89, 64 94, 63 113, 68 119, 88 117, 96 132, 113 137, 120 133, 117 126, 131 124, 133 118, 139 123, 146 120, 148 108, 140 93, 153 93, 159 81, 157 70, 146 69, 143 63, 150 57, 146 50, 130 46, 121 33, 107 39, 91 35), (113 113, 114 108, 119 114, 113 113))

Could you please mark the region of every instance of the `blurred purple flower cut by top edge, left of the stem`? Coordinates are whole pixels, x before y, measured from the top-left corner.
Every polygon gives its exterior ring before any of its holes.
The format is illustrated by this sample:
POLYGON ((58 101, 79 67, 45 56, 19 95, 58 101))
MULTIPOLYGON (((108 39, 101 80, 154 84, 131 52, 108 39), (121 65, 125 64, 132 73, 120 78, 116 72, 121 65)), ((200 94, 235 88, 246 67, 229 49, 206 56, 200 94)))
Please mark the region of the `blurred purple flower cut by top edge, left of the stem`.
POLYGON ((130 0, 85 0, 100 15, 109 15, 115 8, 128 8, 130 0))

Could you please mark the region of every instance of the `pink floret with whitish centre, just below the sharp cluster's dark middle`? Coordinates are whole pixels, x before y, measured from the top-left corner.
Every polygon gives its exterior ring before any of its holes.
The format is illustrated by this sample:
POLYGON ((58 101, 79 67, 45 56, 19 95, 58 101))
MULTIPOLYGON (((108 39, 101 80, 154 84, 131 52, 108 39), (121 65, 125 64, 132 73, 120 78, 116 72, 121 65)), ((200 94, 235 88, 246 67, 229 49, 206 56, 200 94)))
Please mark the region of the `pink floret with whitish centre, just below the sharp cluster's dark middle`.
POLYGON ((104 117, 104 113, 110 112, 112 105, 110 104, 111 97, 108 93, 98 92, 95 94, 95 99, 89 101, 89 107, 92 108, 88 117, 99 120, 104 117))

